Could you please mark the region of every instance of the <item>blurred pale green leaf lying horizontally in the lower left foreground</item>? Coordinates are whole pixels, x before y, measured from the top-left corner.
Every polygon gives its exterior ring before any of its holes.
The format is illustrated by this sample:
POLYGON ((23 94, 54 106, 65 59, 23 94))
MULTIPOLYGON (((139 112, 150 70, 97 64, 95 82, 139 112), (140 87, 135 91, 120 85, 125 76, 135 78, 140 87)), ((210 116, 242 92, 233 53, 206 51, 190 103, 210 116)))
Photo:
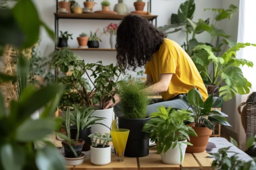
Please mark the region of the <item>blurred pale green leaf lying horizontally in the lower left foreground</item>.
POLYGON ((53 133, 54 129, 54 118, 28 119, 18 127, 16 139, 21 142, 32 142, 53 133))

